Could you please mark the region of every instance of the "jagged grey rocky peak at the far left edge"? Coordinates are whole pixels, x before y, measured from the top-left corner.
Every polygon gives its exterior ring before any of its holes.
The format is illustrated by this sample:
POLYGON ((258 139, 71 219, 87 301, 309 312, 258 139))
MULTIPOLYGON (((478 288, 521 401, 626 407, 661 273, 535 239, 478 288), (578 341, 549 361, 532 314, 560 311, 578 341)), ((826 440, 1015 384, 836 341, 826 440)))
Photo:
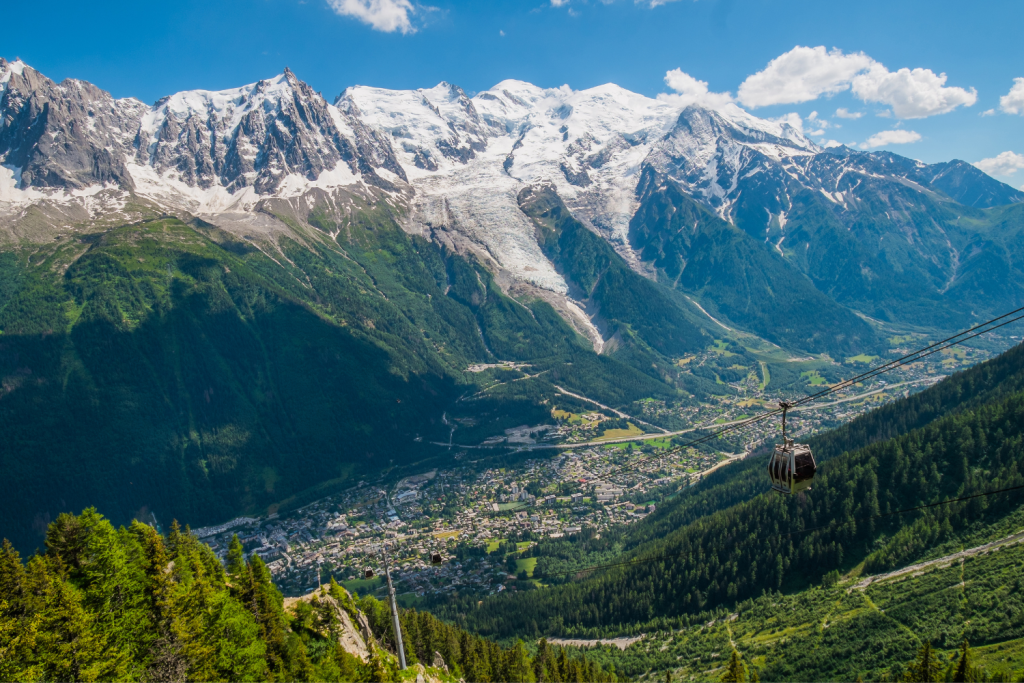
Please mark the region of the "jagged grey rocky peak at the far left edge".
POLYGON ((91 83, 57 84, 20 60, 0 59, 0 163, 20 187, 132 186, 125 152, 145 105, 91 83))

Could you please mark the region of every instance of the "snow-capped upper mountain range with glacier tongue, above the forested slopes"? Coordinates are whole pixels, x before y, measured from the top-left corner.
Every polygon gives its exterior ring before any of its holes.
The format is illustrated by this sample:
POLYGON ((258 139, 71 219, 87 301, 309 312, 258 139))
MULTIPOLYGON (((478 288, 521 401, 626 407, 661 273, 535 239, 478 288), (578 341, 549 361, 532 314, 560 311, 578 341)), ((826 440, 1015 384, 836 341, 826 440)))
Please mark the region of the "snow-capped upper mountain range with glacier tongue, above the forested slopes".
MULTIPOLYGON (((611 84, 574 91, 521 81, 473 97, 447 83, 356 86, 331 103, 287 69, 148 106, 0 59, 0 225, 14 237, 25 236, 30 206, 71 225, 141 199, 251 232, 287 231, 280 210, 267 209, 282 202, 304 219, 317 202, 387 201, 408 231, 474 252, 501 282, 556 297, 566 282, 516 200, 527 185, 553 185, 641 272, 651 267, 631 247, 630 223, 645 169, 783 256, 787 216, 805 190, 849 221, 880 179, 974 207, 1024 200, 965 162, 825 150, 799 122, 734 104, 683 108, 611 84)), ((896 208, 886 214, 895 229, 918 229, 909 217, 900 224, 896 208)))

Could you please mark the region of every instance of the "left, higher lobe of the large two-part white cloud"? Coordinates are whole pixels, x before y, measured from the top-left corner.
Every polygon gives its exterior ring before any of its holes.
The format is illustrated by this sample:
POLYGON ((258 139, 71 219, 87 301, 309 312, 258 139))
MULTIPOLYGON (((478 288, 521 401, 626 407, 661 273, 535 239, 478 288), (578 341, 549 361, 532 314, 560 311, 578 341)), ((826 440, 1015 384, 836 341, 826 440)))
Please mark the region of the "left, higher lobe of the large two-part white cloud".
POLYGON ((806 102, 849 89, 853 77, 872 63, 874 60, 863 52, 843 54, 823 46, 798 45, 749 76, 737 95, 748 106, 806 102))

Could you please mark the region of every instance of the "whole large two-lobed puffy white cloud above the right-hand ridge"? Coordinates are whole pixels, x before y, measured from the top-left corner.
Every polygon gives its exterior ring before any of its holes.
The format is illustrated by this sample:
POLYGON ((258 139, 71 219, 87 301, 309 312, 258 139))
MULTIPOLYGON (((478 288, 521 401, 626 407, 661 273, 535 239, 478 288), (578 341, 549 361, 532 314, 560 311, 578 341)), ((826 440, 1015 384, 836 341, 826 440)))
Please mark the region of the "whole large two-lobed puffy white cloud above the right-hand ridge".
MULTIPOLYGON (((749 76, 739 85, 737 97, 748 106, 794 104, 852 88, 857 98, 888 104, 900 119, 945 114, 977 101, 974 88, 946 87, 945 83, 945 74, 936 75, 930 69, 890 72, 863 52, 844 54, 837 48, 798 45, 749 76)), ((1021 89, 1024 112, 1024 86, 1021 89)))

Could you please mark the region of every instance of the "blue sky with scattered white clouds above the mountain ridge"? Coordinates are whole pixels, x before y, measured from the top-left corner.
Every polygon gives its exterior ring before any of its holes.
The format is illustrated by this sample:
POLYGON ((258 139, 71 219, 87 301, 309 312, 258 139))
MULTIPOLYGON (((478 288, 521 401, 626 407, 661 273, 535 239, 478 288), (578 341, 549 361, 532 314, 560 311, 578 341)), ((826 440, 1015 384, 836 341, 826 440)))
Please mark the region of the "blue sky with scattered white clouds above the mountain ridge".
POLYGON ((670 81, 685 96, 728 92, 757 116, 795 113, 821 131, 815 140, 990 160, 986 170, 1024 184, 1016 0, 51 0, 42 11, 8 3, 4 14, 3 56, 147 102, 286 66, 329 100, 354 84, 444 80, 472 93, 506 78, 655 96, 674 92, 666 77, 680 70, 670 81))

